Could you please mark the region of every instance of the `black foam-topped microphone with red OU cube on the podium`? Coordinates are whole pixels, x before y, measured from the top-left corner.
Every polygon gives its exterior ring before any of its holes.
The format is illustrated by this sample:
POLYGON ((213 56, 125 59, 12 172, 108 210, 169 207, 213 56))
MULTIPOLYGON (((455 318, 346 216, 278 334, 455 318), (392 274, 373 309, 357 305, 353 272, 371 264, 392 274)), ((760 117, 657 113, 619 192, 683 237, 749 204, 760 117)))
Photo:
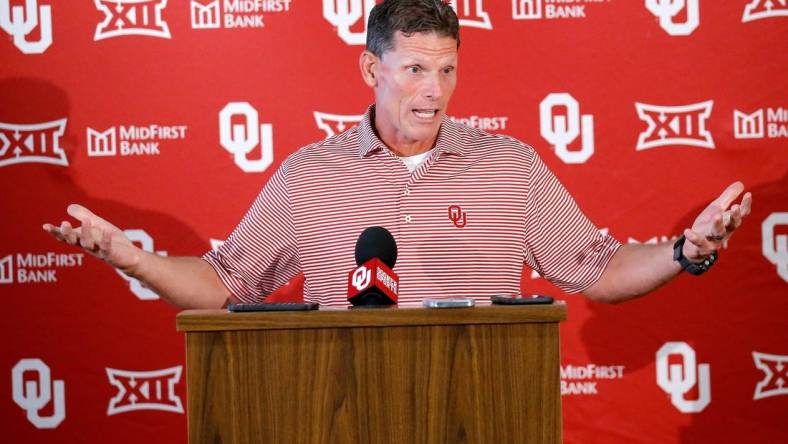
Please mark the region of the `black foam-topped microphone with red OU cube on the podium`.
POLYGON ((392 270, 397 262, 397 243, 383 227, 369 227, 356 241, 356 267, 348 273, 347 298, 354 306, 397 303, 399 277, 392 270))

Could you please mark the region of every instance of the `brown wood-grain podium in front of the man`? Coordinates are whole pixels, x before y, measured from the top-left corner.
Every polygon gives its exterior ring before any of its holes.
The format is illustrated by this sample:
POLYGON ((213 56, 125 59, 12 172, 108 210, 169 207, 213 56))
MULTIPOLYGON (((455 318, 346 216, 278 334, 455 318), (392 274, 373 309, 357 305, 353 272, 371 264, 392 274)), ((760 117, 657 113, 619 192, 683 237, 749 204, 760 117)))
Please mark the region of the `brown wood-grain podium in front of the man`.
POLYGON ((566 305, 187 310, 189 442, 558 443, 566 305))

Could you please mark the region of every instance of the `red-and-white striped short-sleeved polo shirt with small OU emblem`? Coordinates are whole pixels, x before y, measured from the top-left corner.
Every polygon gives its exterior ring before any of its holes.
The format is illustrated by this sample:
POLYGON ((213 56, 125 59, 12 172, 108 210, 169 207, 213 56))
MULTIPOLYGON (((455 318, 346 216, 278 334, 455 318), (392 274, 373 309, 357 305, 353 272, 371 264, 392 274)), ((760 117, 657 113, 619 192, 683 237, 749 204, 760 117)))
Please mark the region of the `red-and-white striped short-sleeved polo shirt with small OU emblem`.
POLYGON ((444 117, 435 149, 411 173, 378 138, 374 112, 288 157, 222 247, 203 256, 240 300, 259 302, 303 272, 305 301, 348 305, 355 243, 371 226, 396 240, 400 304, 517 295, 523 264, 583 291, 620 247, 530 146, 444 117))

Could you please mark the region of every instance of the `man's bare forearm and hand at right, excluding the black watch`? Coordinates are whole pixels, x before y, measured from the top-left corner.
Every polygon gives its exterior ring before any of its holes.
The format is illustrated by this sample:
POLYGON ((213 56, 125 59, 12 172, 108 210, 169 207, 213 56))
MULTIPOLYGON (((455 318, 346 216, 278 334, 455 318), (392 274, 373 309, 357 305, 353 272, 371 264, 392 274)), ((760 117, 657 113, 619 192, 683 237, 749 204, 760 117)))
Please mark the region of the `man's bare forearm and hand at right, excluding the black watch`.
MULTIPOLYGON (((684 230, 687 240, 682 251, 687 259, 702 262, 721 247, 727 247, 728 239, 750 214, 750 193, 745 193, 739 204, 733 203, 743 191, 741 182, 731 184, 698 215, 692 228, 684 230)), ((681 266, 673 260, 672 242, 624 245, 584 294, 600 302, 623 302, 656 289, 680 271, 681 266)))

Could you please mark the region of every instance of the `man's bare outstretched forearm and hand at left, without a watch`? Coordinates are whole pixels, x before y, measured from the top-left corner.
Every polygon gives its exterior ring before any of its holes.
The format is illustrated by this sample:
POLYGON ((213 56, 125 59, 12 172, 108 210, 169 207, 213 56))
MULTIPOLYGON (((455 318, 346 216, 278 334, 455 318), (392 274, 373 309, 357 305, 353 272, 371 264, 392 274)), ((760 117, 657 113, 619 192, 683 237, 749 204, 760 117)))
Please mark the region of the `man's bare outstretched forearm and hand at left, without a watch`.
POLYGON ((44 224, 56 239, 81 247, 93 256, 140 280, 167 302, 181 308, 219 308, 237 302, 207 262, 198 257, 162 257, 135 246, 115 225, 87 208, 66 210, 80 223, 44 224))

